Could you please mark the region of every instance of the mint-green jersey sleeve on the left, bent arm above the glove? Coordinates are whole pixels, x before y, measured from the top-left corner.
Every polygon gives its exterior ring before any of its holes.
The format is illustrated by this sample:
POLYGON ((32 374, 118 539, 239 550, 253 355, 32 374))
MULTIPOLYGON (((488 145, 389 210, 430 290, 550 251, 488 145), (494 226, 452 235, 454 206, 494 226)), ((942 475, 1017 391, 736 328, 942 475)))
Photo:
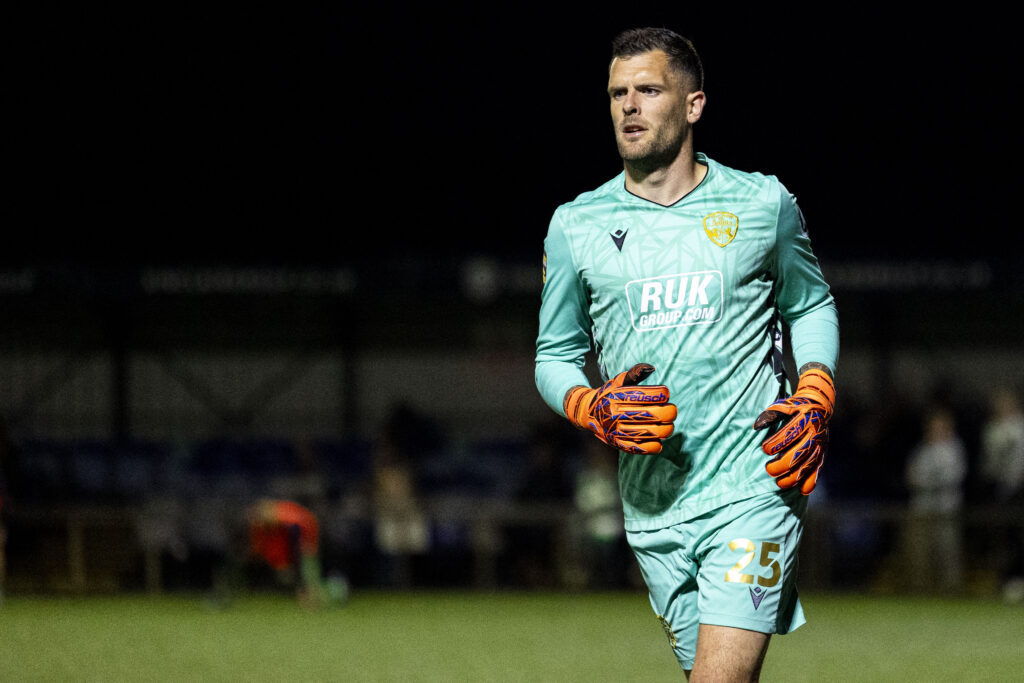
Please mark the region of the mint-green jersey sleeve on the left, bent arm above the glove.
POLYGON ((587 293, 573 264, 562 213, 556 211, 544 240, 535 381, 541 397, 559 415, 565 415, 562 399, 569 388, 590 385, 583 372, 590 330, 587 293))

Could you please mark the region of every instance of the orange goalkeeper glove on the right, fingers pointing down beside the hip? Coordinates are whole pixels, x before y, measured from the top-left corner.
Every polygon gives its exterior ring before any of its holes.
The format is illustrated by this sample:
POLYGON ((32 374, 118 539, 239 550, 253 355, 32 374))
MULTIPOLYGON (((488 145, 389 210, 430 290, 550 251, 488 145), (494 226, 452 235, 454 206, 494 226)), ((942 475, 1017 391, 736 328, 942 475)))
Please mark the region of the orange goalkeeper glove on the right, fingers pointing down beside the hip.
POLYGON ((774 456, 765 470, 775 477, 779 488, 799 485, 807 496, 818 481, 818 470, 828 450, 828 421, 836 403, 836 386, 827 373, 807 370, 800 376, 797 390, 777 400, 758 416, 755 429, 764 429, 786 416, 790 420, 765 439, 761 450, 774 456))

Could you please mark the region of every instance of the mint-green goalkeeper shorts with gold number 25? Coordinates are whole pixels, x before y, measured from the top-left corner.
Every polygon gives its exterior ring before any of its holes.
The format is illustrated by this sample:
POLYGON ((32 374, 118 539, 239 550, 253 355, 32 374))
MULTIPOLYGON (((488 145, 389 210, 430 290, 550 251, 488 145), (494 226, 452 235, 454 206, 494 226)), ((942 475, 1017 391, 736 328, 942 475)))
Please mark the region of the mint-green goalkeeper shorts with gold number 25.
POLYGON ((653 531, 627 533, 650 604, 683 669, 700 624, 783 634, 804 624, 797 551, 807 498, 764 494, 653 531))

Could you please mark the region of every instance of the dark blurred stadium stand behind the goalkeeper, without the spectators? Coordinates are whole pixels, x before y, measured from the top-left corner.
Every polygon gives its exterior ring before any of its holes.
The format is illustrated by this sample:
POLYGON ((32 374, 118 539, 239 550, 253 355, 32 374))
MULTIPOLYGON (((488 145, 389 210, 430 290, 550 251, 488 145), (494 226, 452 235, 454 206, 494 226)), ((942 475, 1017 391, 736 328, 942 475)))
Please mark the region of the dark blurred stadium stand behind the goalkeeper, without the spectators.
MULTIPOLYGON (((1024 380, 1024 281, 976 261, 822 267, 842 392, 802 570, 816 587, 900 590, 916 417, 951 404, 977 457, 988 391, 1024 380)), ((373 462, 399 405, 433 429, 401 444, 430 526, 404 581, 515 585, 505 531, 526 526, 553 529, 549 569, 579 587, 570 495, 522 495, 535 439, 557 434, 534 386, 540 285, 538 264, 494 258, 0 271, 0 417, 17 472, 8 590, 194 587, 171 575, 187 573, 189 549, 264 495, 310 502, 326 564, 373 585, 373 462)), ((569 482, 573 436, 553 437, 569 482)), ((983 584, 991 529, 1024 516, 975 490, 965 530, 983 584)))

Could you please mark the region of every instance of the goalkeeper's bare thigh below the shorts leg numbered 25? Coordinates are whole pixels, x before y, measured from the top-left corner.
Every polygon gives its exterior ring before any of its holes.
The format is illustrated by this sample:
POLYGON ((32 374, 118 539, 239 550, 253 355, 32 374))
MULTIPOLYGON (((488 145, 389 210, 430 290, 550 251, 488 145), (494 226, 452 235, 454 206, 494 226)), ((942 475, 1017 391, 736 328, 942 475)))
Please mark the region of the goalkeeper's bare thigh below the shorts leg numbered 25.
POLYGON ((687 678, 692 683, 758 681, 770 638, 767 633, 701 624, 696 660, 687 678))

